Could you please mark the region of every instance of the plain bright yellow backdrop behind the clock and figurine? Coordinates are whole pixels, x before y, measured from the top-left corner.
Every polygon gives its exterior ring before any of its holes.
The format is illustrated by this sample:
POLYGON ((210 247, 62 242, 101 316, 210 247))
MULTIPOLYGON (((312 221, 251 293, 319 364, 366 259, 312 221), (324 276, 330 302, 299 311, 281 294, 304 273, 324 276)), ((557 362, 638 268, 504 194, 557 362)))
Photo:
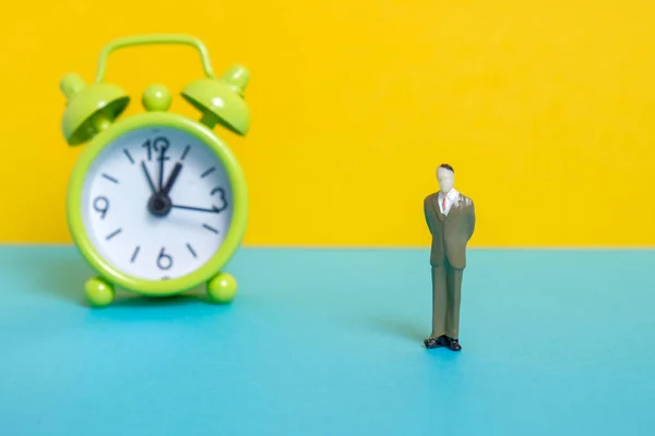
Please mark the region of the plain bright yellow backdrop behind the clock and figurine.
MULTIPOLYGON (((248 66, 240 159, 247 245, 426 245, 434 169, 476 203, 473 246, 655 243, 652 0, 116 0, 12 2, 0 19, 1 242, 68 243, 80 149, 60 77, 95 77, 102 47, 201 38, 217 73, 248 66)), ((133 97, 201 76, 188 47, 109 58, 133 97)), ((198 118, 176 98, 171 107, 198 118)))

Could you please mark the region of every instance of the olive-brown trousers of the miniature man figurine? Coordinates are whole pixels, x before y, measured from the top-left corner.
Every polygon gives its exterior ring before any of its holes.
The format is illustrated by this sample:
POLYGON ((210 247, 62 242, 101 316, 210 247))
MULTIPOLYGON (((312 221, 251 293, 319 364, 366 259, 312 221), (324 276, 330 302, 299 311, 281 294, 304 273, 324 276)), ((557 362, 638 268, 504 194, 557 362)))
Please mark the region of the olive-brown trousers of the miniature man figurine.
POLYGON ((445 335, 458 339, 463 274, 446 259, 432 266, 432 338, 445 335))

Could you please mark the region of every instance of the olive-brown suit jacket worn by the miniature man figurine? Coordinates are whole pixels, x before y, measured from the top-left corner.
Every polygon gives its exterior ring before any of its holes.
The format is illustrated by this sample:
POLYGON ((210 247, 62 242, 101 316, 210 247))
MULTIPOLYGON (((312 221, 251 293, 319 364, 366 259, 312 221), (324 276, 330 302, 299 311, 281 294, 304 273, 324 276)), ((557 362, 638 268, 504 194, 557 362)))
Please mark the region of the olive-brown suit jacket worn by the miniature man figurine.
POLYGON ((439 192, 424 201, 426 221, 432 234, 430 265, 440 266, 444 258, 455 269, 466 267, 466 244, 475 230, 475 206, 462 193, 453 202, 446 215, 439 208, 439 192))

